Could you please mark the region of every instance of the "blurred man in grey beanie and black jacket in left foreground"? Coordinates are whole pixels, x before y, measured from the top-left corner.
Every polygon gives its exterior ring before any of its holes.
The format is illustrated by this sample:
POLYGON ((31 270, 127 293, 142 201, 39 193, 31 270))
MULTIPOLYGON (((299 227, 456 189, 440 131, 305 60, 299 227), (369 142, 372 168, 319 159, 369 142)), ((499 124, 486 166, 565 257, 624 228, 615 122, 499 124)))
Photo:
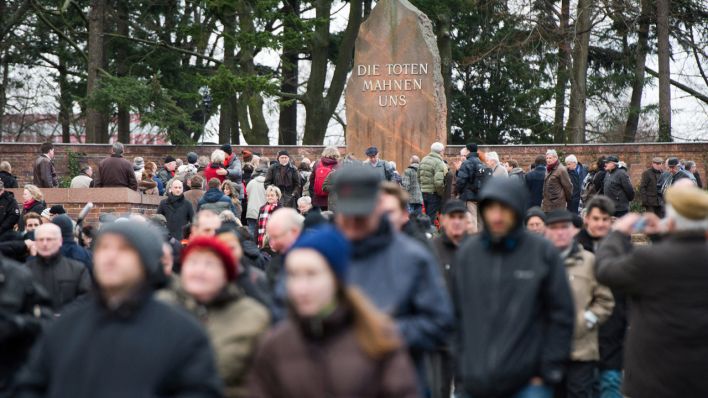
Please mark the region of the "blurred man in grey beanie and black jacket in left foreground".
POLYGON ((161 256, 147 224, 105 226, 93 258, 97 294, 37 343, 15 397, 221 397, 204 330, 153 298, 165 282, 161 256))

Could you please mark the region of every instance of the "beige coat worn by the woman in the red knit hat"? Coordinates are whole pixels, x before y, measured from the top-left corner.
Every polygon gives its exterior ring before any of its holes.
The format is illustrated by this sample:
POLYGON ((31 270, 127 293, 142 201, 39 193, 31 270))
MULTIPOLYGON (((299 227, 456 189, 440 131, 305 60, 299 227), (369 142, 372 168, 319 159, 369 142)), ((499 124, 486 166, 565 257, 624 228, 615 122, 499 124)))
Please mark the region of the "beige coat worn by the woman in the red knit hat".
POLYGON ((258 341, 270 326, 268 310, 246 297, 235 285, 229 285, 208 305, 202 305, 182 292, 163 293, 166 294, 160 295, 160 299, 186 309, 206 329, 216 354, 219 376, 224 382, 225 396, 249 396, 246 377, 258 341))

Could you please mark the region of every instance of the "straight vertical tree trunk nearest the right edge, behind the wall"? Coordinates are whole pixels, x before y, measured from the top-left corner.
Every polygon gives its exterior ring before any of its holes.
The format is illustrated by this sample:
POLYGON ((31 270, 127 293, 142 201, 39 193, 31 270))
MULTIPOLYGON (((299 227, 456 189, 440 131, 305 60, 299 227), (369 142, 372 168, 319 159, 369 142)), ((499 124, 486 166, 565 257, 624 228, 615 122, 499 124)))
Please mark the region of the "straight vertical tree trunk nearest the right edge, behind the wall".
POLYGON ((659 141, 671 141, 671 48, 669 13, 671 0, 656 0, 656 28, 659 47, 659 141))

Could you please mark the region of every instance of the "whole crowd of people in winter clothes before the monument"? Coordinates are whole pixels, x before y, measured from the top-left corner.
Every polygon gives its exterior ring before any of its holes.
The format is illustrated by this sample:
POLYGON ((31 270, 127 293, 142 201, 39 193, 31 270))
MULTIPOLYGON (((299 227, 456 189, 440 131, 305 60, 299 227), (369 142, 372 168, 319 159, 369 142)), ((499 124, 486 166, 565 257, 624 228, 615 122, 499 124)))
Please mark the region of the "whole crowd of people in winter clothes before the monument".
POLYGON ((163 195, 96 225, 0 162, 0 397, 708 396, 708 193, 654 158, 468 144, 231 145, 158 168, 120 143, 72 188, 163 195), (633 243, 633 236, 647 242, 633 243))

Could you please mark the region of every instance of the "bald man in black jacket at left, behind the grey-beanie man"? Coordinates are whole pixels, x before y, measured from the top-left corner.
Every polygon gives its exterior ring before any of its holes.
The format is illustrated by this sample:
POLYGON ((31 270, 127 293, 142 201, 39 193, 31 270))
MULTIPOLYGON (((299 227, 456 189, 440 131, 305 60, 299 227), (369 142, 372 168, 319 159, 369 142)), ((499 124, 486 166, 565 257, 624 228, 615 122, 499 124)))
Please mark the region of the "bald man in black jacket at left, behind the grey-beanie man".
POLYGON ((55 224, 42 224, 34 231, 37 255, 27 261, 34 279, 49 293, 52 310, 61 314, 69 304, 83 298, 91 290, 88 268, 61 255, 61 229, 55 224))

